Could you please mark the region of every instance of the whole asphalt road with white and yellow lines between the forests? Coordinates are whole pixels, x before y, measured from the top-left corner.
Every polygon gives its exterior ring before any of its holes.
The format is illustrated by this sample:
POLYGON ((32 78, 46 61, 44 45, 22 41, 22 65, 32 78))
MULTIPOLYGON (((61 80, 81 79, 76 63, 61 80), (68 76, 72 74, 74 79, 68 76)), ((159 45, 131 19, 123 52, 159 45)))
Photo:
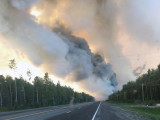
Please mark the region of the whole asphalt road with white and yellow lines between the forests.
POLYGON ((106 102, 90 102, 73 106, 7 112, 0 120, 148 120, 106 102))

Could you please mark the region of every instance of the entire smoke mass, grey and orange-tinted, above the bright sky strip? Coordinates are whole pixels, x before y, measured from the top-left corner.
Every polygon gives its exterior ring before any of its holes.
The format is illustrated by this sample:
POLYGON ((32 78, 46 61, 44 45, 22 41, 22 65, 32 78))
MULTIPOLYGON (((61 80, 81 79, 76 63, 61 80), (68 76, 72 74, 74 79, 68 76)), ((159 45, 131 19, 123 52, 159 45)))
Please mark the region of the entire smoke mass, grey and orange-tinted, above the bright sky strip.
POLYGON ((126 53, 141 52, 143 61, 139 64, 143 64, 153 60, 143 53, 150 52, 153 45, 159 47, 160 20, 153 14, 159 11, 157 0, 152 4, 150 0, 0 2, 0 34, 9 43, 24 51, 35 65, 65 80, 76 81, 101 99, 115 91, 116 77, 119 88, 136 79, 133 69, 140 65, 135 65, 126 53), (40 11, 40 15, 35 18, 28 14, 30 8, 40 11))

